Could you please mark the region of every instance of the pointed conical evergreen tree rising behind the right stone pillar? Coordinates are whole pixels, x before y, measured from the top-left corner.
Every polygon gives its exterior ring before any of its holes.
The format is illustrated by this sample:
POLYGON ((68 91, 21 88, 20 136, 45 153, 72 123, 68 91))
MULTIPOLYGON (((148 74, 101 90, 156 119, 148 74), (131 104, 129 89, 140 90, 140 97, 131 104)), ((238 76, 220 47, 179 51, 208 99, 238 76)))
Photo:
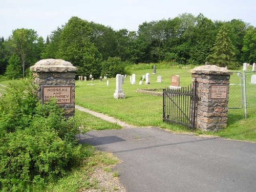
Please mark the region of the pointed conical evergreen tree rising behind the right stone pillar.
POLYGON ((227 66, 229 69, 237 67, 238 63, 234 58, 236 49, 228 36, 226 25, 223 25, 217 34, 217 38, 212 50, 213 54, 207 57, 207 60, 209 60, 211 64, 220 67, 227 66))

